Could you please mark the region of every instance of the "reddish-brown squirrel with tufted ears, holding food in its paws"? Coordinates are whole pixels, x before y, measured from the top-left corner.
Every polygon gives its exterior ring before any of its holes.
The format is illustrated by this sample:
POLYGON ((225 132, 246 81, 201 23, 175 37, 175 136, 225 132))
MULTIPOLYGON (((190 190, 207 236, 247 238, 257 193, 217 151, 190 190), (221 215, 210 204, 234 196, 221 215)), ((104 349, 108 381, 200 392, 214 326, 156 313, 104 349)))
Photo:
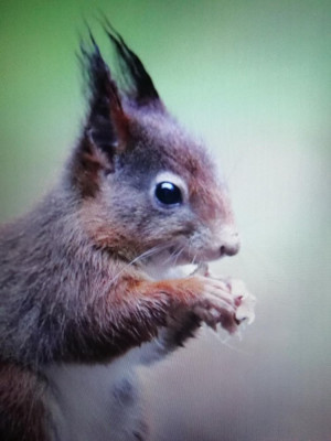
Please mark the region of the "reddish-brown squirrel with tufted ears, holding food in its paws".
POLYGON ((203 143, 169 114, 139 57, 110 24, 105 31, 124 85, 89 33, 81 45, 88 111, 78 142, 53 190, 0 230, 6 441, 147 440, 143 421, 129 428, 136 391, 121 361, 150 364, 202 323, 233 333, 249 315, 246 293, 234 293, 232 281, 212 277, 205 263, 239 249, 224 180, 203 143), (170 275, 190 263, 195 272, 170 275), (78 434, 71 412, 79 415, 84 405, 71 408, 70 400, 82 391, 75 381, 84 372, 90 394, 109 372, 120 378, 108 407, 120 401, 129 411, 122 406, 111 418, 107 410, 105 430, 86 411, 78 434), (114 434, 117 419, 122 427, 114 434))

